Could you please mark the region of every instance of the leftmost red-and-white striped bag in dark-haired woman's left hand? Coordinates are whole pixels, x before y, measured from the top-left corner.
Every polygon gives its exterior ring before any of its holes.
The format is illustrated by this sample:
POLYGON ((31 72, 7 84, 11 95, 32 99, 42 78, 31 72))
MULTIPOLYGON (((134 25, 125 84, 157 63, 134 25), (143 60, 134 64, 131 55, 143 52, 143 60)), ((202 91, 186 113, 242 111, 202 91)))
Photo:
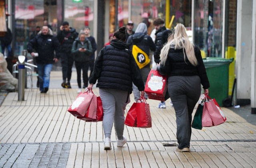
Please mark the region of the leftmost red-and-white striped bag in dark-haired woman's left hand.
POLYGON ((76 100, 68 108, 68 112, 70 112, 73 116, 85 116, 88 107, 92 101, 93 95, 94 94, 92 92, 89 92, 88 90, 79 94, 76 97, 76 100))

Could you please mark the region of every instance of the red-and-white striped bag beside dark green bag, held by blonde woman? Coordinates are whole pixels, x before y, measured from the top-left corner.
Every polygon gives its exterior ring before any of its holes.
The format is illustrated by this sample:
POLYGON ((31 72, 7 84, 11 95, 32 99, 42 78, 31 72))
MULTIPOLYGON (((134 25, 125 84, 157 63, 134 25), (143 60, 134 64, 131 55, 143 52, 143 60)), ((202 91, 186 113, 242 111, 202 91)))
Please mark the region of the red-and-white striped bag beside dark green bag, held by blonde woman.
POLYGON ((224 116, 224 113, 220 109, 220 106, 216 102, 215 98, 212 99, 208 95, 205 96, 206 102, 204 103, 203 107, 202 126, 210 127, 224 123, 227 118, 224 116))

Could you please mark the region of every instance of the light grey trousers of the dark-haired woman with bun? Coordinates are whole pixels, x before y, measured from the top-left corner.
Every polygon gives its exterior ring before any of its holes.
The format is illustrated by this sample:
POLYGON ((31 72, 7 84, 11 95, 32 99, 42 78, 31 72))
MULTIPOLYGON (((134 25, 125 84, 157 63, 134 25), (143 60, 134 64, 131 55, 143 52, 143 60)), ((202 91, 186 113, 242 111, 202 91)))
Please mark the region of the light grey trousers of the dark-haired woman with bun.
POLYGON ((124 133, 124 110, 130 94, 125 90, 112 88, 100 88, 100 98, 103 106, 103 130, 105 138, 110 138, 111 130, 114 127, 119 140, 122 140, 124 133))

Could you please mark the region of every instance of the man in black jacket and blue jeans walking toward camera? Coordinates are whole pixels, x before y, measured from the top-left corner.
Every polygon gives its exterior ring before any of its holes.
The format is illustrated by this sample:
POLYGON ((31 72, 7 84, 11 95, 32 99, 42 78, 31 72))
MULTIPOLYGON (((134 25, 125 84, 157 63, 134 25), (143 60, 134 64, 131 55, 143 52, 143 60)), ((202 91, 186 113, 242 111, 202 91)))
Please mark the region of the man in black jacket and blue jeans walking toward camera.
POLYGON ((50 83, 50 72, 54 62, 58 62, 60 43, 52 35, 48 26, 43 26, 42 31, 28 43, 28 52, 36 58, 38 66, 39 88, 41 93, 46 93, 50 83), (35 50, 36 52, 33 52, 35 50), (54 51, 56 56, 54 56, 54 51))

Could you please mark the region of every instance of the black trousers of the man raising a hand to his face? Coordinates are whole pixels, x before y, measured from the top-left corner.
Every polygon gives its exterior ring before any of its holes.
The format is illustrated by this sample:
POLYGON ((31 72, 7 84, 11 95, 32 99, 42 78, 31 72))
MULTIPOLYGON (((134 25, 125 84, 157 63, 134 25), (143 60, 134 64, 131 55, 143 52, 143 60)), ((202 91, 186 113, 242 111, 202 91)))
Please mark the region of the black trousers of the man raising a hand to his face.
POLYGON ((61 65, 62 65, 62 79, 66 81, 68 78, 68 82, 71 79, 72 66, 74 64, 73 55, 70 52, 62 52, 61 53, 61 65))

